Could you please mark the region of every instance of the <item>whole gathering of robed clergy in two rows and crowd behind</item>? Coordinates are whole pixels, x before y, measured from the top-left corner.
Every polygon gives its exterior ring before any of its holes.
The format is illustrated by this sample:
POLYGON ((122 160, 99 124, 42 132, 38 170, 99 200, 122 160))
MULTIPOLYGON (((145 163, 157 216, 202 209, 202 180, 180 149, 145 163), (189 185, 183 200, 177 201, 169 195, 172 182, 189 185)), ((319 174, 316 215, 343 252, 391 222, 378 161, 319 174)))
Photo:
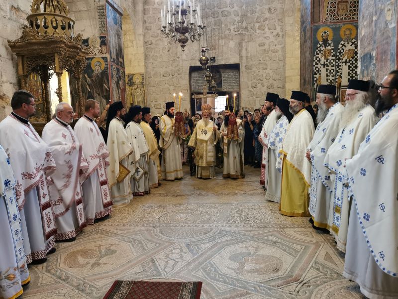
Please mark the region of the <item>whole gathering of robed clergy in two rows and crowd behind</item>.
POLYGON ((398 297, 398 71, 380 84, 353 79, 339 101, 333 85, 289 99, 267 93, 261 109, 209 104, 190 117, 166 103, 149 107, 86 100, 74 122, 59 103, 42 136, 29 123, 34 97, 16 91, 0 122, 0 297, 15 298, 30 281, 28 264, 42 264, 55 242, 73 242, 112 205, 150 194, 161 180, 183 178, 183 164, 201 179, 242 179, 259 169, 266 200, 282 215, 310 217, 345 253, 344 277, 368 298, 398 297), (100 129, 106 116, 105 130, 100 129), (99 126, 100 125, 100 126, 99 126))

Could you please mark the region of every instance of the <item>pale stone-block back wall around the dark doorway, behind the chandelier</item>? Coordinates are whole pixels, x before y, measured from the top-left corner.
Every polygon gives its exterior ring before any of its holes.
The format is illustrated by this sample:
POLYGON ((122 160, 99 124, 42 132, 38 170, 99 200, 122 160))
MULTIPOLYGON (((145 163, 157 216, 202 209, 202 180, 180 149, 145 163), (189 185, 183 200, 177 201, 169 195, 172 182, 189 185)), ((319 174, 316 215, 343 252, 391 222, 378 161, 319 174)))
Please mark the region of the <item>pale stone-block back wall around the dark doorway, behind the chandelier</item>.
MULTIPOLYGON (((155 112, 162 112, 164 103, 172 100, 172 94, 182 92, 182 109, 190 110, 190 101, 185 95, 190 93, 189 66, 199 65, 199 43, 189 42, 183 52, 178 43, 161 37, 161 3, 144 2, 147 100, 155 112)), ((298 88, 297 65, 290 66, 289 85, 286 84, 286 55, 291 55, 290 58, 298 55, 296 61, 299 57, 298 36, 292 32, 297 30, 299 18, 291 20, 297 16, 298 0, 289 1, 286 6, 283 0, 215 0, 201 7, 208 30, 207 46, 212 49, 216 64, 240 63, 243 108, 259 107, 267 91, 285 96, 287 90, 298 88), (288 38, 293 47, 297 43, 295 53, 291 53, 291 49, 286 51, 288 38)))

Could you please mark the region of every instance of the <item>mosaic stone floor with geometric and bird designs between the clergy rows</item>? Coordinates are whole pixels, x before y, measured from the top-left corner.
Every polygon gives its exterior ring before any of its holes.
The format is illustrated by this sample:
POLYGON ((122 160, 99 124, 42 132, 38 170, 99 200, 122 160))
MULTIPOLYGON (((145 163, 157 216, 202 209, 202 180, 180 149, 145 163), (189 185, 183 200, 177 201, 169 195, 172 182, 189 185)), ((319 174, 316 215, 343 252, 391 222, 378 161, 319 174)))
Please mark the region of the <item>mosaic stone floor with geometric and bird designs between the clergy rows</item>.
MULTIPOLYGON (((185 166, 186 167, 186 166, 185 166)), ((114 280, 202 281, 201 299, 360 299, 332 238, 246 179, 162 182, 30 266, 23 298, 102 298, 114 280)), ((256 171, 257 170, 257 171, 256 171)))

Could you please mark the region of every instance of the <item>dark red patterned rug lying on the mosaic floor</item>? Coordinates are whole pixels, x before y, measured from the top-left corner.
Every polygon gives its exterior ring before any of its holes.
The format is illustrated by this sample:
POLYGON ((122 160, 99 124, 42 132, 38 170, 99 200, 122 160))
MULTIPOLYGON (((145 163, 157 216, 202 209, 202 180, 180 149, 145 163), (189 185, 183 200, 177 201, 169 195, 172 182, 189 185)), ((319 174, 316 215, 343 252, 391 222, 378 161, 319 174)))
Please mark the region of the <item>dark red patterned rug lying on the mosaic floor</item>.
POLYGON ((115 281, 103 299, 199 299, 202 282, 115 281))

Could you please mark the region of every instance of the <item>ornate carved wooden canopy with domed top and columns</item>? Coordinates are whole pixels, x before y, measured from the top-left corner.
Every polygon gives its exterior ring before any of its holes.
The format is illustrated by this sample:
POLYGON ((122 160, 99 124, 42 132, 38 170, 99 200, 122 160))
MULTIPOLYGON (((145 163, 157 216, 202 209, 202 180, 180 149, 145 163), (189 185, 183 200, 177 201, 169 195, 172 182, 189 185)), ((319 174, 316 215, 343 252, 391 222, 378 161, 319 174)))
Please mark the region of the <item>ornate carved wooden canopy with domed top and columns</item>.
MULTIPOLYGON (((86 56, 89 49, 82 44, 82 36, 75 36, 75 21, 69 17, 69 8, 63 0, 33 0, 31 14, 26 19, 28 26, 22 28, 22 36, 8 41, 17 56, 18 77, 21 89, 27 89, 30 74, 38 74, 42 85, 42 98, 46 122, 52 119, 48 83, 54 73, 58 77, 56 91, 62 102, 61 76, 68 71, 78 82, 79 115, 84 113, 84 99, 80 86, 86 56)), ((45 122, 45 123, 46 123, 45 122)), ((44 124, 38 124, 41 131, 44 124)), ((34 122, 32 122, 34 125, 34 122)))

